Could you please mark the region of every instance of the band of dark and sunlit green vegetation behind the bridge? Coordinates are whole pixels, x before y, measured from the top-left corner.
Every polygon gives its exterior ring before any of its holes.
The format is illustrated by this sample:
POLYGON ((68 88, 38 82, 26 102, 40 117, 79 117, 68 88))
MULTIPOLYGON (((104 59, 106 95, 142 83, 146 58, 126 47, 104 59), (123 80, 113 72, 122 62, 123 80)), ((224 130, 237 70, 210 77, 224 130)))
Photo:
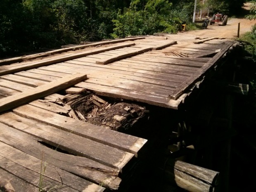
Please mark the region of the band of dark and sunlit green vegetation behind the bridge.
MULTIPOLYGON (((245 0, 197 0, 198 9, 234 14, 245 0)), ((192 24, 194 0, 1 0, 0 57, 44 47, 157 32, 192 24)))

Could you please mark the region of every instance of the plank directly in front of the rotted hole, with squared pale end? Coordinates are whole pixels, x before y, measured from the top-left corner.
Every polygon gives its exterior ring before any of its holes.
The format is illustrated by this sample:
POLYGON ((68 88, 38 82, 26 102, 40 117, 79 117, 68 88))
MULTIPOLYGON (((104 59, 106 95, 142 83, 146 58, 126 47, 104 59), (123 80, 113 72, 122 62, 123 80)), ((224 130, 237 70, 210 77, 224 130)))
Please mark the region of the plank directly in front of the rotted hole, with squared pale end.
POLYGON ((107 130, 101 128, 100 126, 81 122, 50 111, 38 109, 30 105, 24 105, 14 109, 14 113, 21 116, 26 116, 26 118, 29 119, 35 119, 39 122, 46 123, 47 125, 54 126, 62 130, 66 130, 67 132, 72 131, 73 134, 133 153, 135 156, 137 156, 140 149, 147 142, 147 140, 139 137, 126 135, 114 130, 107 130), (31 111, 33 111, 33 113, 31 113, 31 111), (44 118, 42 118, 42 116, 44 118))

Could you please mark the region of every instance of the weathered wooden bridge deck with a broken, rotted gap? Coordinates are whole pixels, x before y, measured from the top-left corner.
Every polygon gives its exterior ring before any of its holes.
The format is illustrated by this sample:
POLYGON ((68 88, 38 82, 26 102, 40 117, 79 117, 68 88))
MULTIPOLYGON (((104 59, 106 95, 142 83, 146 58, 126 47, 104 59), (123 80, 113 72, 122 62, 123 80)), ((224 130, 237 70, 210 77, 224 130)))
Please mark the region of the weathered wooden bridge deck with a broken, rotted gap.
POLYGON ((233 41, 130 37, 0 60, 0 185, 15 191, 119 189, 147 140, 62 114, 78 88, 179 109, 233 41), (72 88, 71 88, 72 87, 72 88))

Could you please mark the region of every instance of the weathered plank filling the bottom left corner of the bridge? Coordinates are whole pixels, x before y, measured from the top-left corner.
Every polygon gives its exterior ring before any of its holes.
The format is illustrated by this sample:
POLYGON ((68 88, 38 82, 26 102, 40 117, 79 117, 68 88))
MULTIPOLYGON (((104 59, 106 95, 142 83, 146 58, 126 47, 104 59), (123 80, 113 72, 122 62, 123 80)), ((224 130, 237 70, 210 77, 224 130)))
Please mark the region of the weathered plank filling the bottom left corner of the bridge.
POLYGON ((38 187, 35 187, 26 181, 4 171, 0 168, 0 188, 5 192, 19 192, 19 191, 29 191, 38 192, 38 187))

